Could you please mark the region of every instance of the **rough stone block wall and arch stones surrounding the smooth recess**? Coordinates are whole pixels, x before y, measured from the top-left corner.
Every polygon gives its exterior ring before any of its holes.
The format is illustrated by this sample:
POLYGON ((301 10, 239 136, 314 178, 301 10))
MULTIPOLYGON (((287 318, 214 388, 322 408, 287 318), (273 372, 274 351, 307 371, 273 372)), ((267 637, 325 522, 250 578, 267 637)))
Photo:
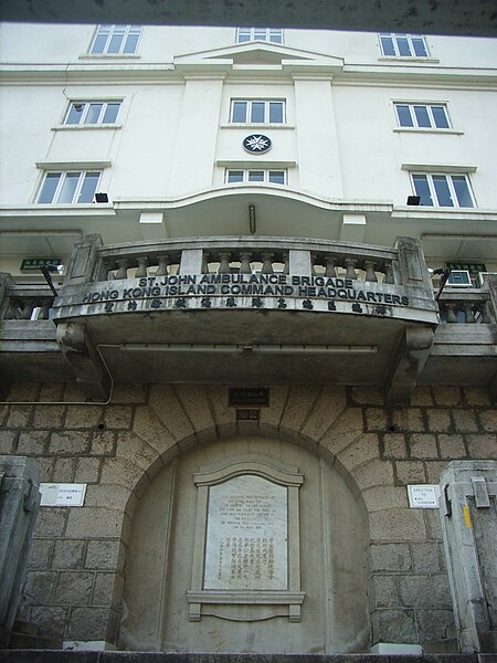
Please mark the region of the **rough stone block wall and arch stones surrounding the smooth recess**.
POLYGON ((119 385, 101 406, 74 404, 84 398, 73 385, 22 383, 9 401, 0 453, 34 459, 44 482, 87 484, 84 507, 41 508, 19 617, 42 634, 117 642, 140 494, 177 454, 241 432, 331 459, 362 501, 371 643, 456 651, 438 513, 409 508, 405 486, 437 484, 454 459, 497 457, 484 390, 417 388, 410 407, 387 407, 377 389, 275 386, 258 422, 236 422, 223 386, 119 385))

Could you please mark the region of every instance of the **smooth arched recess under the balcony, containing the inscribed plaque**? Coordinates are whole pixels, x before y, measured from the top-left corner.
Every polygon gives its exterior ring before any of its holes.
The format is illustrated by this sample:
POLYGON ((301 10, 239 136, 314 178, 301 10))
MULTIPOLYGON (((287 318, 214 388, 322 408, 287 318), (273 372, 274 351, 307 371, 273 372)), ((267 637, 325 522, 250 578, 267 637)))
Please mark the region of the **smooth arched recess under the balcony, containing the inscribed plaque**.
POLYGON ((367 518, 331 462, 279 439, 197 446, 136 508, 119 646, 367 651, 367 518))

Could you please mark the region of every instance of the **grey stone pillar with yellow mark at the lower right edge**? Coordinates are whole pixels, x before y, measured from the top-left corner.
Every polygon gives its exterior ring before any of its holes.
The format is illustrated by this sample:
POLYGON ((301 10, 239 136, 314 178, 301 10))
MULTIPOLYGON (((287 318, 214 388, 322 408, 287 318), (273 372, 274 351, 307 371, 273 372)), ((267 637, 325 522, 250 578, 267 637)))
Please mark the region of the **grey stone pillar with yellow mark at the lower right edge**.
POLYGON ((453 461, 441 518, 462 653, 497 651, 497 462, 453 461))

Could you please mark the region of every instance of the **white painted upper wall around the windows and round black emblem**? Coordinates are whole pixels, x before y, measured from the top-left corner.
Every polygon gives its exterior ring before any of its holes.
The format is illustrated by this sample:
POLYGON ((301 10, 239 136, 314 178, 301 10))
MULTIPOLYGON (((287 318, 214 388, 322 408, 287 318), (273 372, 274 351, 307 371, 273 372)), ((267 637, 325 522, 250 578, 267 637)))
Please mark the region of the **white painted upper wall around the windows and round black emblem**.
MULTIPOLYGON (((307 57, 309 71, 264 69, 255 54, 252 69, 223 73, 209 56, 236 51, 234 28, 146 27, 137 54, 123 59, 86 56, 93 33, 92 25, 0 27, 0 204, 33 203, 36 164, 109 161, 101 190, 137 209, 222 188, 230 167, 286 167, 288 189, 321 201, 404 206, 410 165, 467 168, 478 210, 497 212, 497 40, 430 36, 431 59, 410 63, 382 59, 376 34, 286 30, 285 48, 307 57), (202 51, 194 71, 172 67, 175 56, 202 51), (319 73, 313 53, 342 59, 343 70, 319 73), (115 127, 61 128, 71 99, 99 98, 123 98, 115 127), (230 125, 232 98, 284 98, 287 123, 230 125), (447 104, 453 130, 399 130, 395 101, 447 104), (245 152, 250 133, 267 134, 271 152, 245 152)), ((400 231, 409 234, 409 223, 400 231)))

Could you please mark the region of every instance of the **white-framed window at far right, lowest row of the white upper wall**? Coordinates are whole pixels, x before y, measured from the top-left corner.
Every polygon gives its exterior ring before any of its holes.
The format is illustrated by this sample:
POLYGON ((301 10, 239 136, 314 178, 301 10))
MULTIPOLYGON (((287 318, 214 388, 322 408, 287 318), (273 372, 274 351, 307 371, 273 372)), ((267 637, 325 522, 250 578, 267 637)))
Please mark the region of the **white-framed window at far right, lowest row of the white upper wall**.
POLYGON ((476 207, 466 175, 412 175, 421 204, 431 207, 476 207))

